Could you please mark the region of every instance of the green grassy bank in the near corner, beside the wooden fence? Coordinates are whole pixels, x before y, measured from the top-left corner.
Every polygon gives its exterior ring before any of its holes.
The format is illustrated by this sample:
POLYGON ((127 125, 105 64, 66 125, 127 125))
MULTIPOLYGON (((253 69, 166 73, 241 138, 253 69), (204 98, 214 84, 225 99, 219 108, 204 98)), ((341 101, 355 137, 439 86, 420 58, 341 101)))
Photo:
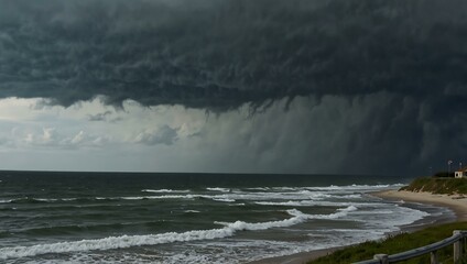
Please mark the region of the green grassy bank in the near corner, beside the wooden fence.
MULTIPOLYGON (((311 261, 308 264, 352 263, 371 260, 373 258, 374 254, 384 253, 391 255, 449 238, 453 235, 454 230, 467 230, 467 222, 435 226, 413 233, 391 235, 383 241, 365 242, 362 244, 348 246, 346 249, 336 251, 328 256, 323 256, 315 261, 311 261)), ((439 250, 438 260, 442 263, 453 263, 453 246, 447 246, 443 250, 439 250)), ((430 255, 420 256, 403 263, 430 263, 430 255)))

